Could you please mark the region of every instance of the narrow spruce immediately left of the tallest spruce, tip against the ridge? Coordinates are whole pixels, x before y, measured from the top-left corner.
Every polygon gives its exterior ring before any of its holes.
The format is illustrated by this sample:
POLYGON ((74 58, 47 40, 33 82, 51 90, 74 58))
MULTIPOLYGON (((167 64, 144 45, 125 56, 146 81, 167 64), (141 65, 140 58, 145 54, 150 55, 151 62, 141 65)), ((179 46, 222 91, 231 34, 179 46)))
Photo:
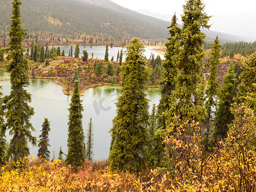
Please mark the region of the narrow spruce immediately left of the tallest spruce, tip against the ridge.
POLYGON ((175 56, 179 51, 180 28, 177 24, 177 17, 173 15, 172 24, 168 27, 170 36, 166 42, 165 61, 163 63, 163 76, 161 78, 161 99, 157 108, 157 125, 161 129, 166 129, 166 113, 172 103, 172 92, 175 89, 175 78, 177 68, 175 67, 175 56))

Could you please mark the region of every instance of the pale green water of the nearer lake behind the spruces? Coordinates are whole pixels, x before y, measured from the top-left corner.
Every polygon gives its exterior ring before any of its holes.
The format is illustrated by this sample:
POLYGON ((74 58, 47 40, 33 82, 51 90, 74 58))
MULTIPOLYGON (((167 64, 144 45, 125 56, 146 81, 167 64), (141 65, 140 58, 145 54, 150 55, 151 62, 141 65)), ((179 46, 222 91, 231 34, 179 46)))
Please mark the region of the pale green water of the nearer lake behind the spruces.
MULTIPOLYGON (((9 77, 6 72, 0 72, 0 79, 9 77)), ((4 95, 10 93, 10 81, 0 81, 4 95)), ((44 118, 51 122, 49 133, 51 157, 53 152, 58 157, 60 147, 67 154, 67 130, 68 130, 68 108, 71 96, 64 95, 62 87, 51 80, 30 79, 30 85, 26 88, 32 95, 32 102, 29 106, 35 109, 35 115, 31 123, 36 129, 33 136, 39 138, 44 118)), ((160 96, 157 88, 150 88, 147 91, 150 99, 150 112, 153 104, 158 104, 160 96)), ((112 120, 116 112, 116 98, 120 96, 120 87, 99 86, 88 88, 84 91, 83 99, 83 129, 84 133, 88 128, 90 118, 93 123, 93 154, 94 159, 108 159, 111 136, 109 129, 112 127, 112 120)), ((6 132, 8 134, 8 132, 6 132)), ((10 141, 10 136, 6 136, 10 141)), ((38 148, 29 144, 30 153, 36 157, 38 148)))

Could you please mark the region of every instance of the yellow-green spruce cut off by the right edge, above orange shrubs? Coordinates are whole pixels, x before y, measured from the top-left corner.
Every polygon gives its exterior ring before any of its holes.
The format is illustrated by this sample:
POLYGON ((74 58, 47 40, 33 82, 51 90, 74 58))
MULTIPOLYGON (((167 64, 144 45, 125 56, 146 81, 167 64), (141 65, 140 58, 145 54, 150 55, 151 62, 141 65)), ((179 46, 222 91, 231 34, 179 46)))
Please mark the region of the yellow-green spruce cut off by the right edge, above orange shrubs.
POLYGON ((237 87, 238 92, 235 101, 237 103, 248 103, 252 108, 255 108, 255 103, 250 102, 250 100, 248 100, 248 96, 251 93, 256 93, 256 52, 251 54, 249 58, 246 61, 244 61, 241 68, 242 72, 239 76, 241 83, 237 87))

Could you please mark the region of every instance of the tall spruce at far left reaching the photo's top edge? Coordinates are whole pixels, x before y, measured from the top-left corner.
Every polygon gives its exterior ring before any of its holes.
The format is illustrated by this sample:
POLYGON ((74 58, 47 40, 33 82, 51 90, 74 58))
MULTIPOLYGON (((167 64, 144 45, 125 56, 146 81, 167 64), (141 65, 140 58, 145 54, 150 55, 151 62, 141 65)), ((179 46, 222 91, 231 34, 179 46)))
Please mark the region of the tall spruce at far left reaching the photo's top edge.
POLYGON ((21 42, 26 32, 22 29, 20 20, 20 0, 12 2, 12 23, 10 26, 10 54, 8 58, 12 61, 8 64, 6 70, 10 72, 11 92, 3 98, 4 110, 6 111, 5 128, 10 130, 12 140, 8 148, 8 154, 13 161, 19 158, 29 156, 28 140, 36 145, 36 138, 32 136, 31 131, 35 131, 29 119, 34 115, 34 109, 28 103, 31 102, 31 95, 24 90, 29 84, 28 60, 23 59, 21 42))

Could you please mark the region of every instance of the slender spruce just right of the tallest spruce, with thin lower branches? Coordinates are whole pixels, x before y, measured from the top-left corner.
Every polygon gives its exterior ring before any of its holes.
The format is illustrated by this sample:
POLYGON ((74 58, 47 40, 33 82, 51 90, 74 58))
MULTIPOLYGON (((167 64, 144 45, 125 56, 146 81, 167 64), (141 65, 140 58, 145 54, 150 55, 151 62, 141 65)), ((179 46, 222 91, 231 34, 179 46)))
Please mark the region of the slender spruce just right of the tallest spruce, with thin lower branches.
POLYGON ((214 118, 214 111, 217 106, 217 91, 218 91, 218 83, 217 83, 217 70, 218 65, 220 64, 219 58, 220 58, 220 40, 218 39, 218 35, 216 36, 216 39, 214 40, 214 43, 212 44, 211 49, 211 58, 209 61, 210 70, 209 70, 209 79, 207 82, 207 89, 206 89, 206 97, 205 97, 205 108, 207 110, 207 116, 204 121, 204 127, 205 127, 205 148, 208 148, 209 143, 209 136, 210 131, 212 128, 212 122, 214 118))

